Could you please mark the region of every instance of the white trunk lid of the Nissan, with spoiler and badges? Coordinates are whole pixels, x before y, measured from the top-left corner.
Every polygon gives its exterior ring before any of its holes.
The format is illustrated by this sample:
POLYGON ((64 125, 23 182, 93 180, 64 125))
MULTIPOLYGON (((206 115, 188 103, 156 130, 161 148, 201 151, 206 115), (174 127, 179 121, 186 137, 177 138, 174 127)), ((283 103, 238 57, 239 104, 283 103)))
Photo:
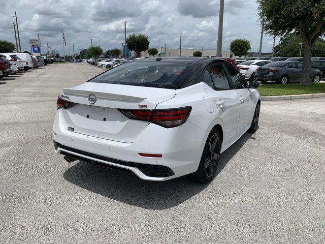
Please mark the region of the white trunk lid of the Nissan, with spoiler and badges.
POLYGON ((132 143, 149 122, 129 119, 118 109, 154 109, 175 94, 174 89, 86 82, 63 89, 60 97, 77 103, 62 109, 63 123, 75 133, 132 143))

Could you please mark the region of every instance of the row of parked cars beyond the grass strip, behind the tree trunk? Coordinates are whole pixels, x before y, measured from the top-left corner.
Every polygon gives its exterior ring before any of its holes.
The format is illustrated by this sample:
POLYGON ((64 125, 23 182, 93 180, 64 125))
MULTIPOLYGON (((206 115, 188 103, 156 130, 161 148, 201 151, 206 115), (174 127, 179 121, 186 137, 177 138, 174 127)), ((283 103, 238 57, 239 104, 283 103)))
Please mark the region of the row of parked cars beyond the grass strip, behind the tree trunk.
MULTIPOLYGON (((262 83, 274 81, 281 84, 300 81, 302 78, 303 57, 248 57, 230 59, 245 78, 262 83)), ((319 82, 325 76, 325 57, 313 57, 310 80, 319 82)))

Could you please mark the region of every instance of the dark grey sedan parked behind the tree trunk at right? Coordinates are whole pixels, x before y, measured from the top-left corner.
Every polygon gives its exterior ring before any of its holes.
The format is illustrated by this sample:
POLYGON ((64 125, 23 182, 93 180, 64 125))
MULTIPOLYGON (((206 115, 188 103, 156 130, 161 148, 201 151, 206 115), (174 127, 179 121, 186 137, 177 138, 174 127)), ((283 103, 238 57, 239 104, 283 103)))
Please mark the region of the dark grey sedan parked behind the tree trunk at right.
MULTIPOLYGON (((303 64, 298 61, 277 61, 259 67, 256 71, 255 79, 262 83, 275 81, 277 83, 286 84, 288 82, 300 81, 303 64)), ((310 69, 310 80, 319 82, 322 73, 318 69, 310 69)))

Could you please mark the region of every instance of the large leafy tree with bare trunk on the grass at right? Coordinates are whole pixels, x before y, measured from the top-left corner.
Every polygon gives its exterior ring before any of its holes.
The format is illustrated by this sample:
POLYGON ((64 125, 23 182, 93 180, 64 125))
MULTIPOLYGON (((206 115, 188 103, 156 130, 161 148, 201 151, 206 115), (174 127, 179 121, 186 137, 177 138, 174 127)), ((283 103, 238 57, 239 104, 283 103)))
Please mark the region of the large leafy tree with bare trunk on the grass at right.
POLYGON ((325 0, 256 0, 258 15, 272 36, 293 31, 304 43, 301 85, 309 85, 312 51, 318 37, 325 34, 325 0))

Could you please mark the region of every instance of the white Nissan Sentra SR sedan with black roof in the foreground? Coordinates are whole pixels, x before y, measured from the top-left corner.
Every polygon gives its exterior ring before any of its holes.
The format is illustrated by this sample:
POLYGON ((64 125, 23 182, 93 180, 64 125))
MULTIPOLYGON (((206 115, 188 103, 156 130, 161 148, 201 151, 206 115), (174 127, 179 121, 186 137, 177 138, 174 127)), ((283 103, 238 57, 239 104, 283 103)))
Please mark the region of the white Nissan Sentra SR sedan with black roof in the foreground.
POLYGON ((190 174, 207 183, 221 153, 257 130, 257 87, 223 59, 134 60, 63 89, 55 153, 145 180, 190 174))

